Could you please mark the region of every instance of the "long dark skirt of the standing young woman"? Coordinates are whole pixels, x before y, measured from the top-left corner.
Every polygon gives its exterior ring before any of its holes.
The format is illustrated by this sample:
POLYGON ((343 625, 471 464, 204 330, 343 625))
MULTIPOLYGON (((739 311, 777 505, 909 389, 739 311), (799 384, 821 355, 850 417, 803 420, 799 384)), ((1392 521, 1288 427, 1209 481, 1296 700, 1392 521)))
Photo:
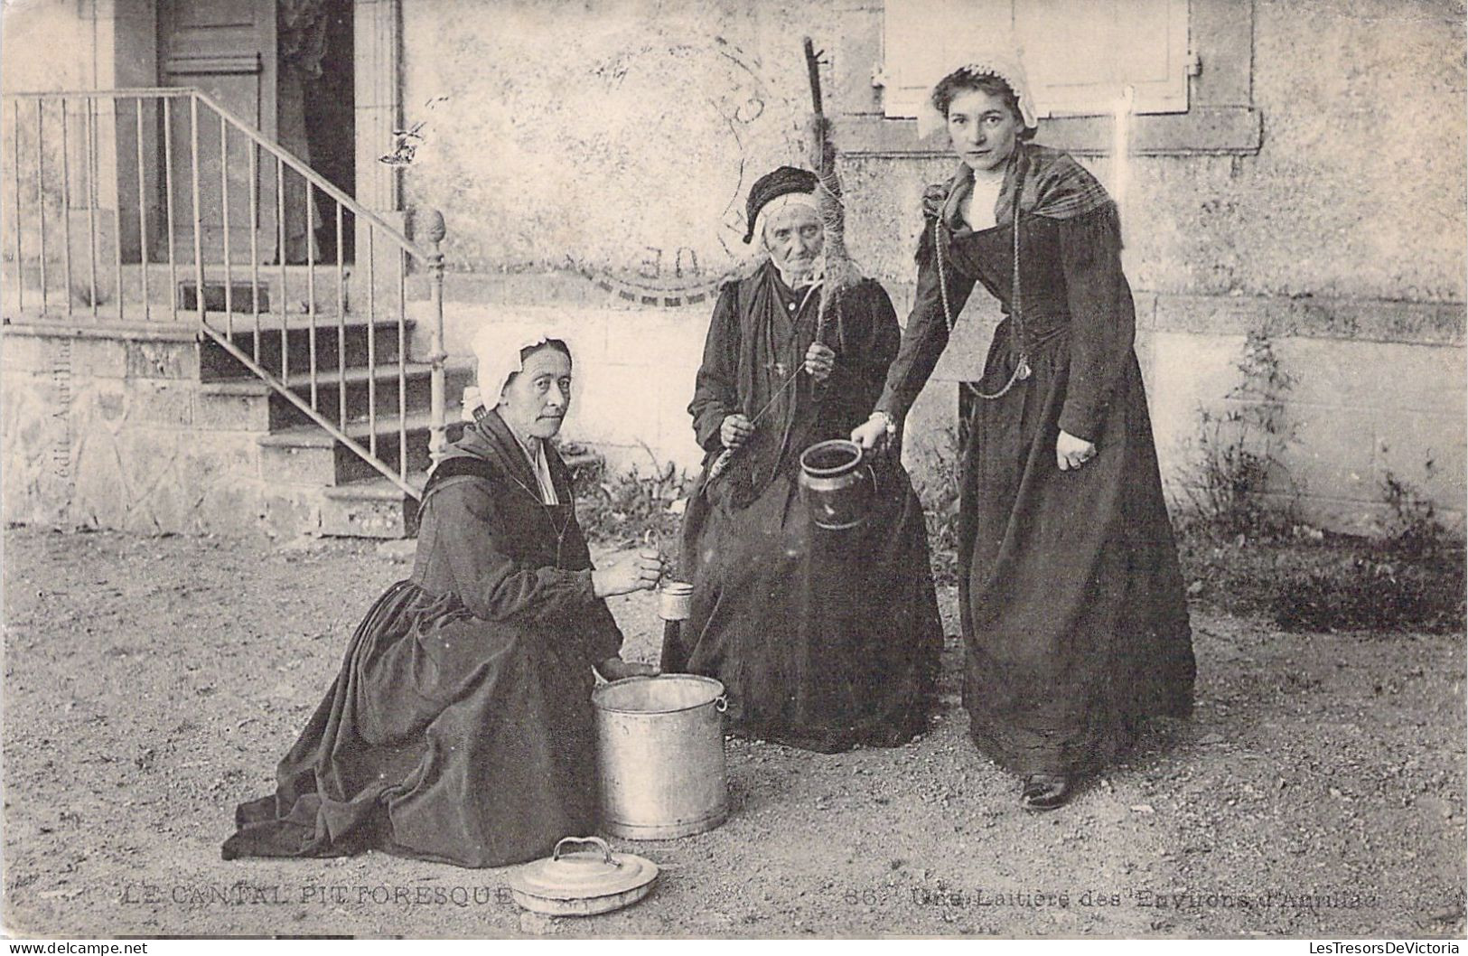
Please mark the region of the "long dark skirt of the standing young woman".
MULTIPOLYGON (((985 389, 1013 367, 995 336, 985 389)), ((1066 336, 1060 342, 1066 342, 1066 336)), ((1063 347, 975 399, 960 502, 963 702, 975 743, 1016 772, 1083 772, 1151 715, 1192 708, 1192 630, 1135 355, 1097 455, 1055 464, 1063 347)))

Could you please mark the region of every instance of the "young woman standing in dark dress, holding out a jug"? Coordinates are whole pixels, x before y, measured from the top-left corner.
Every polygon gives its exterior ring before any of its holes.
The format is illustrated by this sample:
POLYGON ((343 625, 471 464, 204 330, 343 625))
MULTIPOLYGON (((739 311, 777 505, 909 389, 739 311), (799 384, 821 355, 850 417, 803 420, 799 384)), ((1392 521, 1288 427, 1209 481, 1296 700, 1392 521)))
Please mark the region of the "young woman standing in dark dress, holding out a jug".
POLYGON ((1017 63, 932 91, 957 173, 925 197, 918 292, 865 446, 900 423, 975 285, 1006 319, 972 395, 960 498, 964 706, 1029 809, 1188 715, 1192 631, 1141 370, 1116 204, 1070 156, 1029 142, 1017 63))

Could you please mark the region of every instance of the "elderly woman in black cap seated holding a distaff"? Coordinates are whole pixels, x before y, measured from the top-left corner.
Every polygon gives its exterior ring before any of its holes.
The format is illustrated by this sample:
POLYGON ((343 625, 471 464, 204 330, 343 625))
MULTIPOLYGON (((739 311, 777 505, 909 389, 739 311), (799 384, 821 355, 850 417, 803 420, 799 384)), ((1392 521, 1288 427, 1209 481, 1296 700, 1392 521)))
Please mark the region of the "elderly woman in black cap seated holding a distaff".
POLYGON ((923 728, 942 630, 922 507, 895 458, 873 461, 859 529, 813 529, 799 495, 800 454, 866 421, 901 338, 876 282, 822 288, 816 185, 785 166, 749 195, 744 241, 765 256, 724 286, 709 325, 688 407, 706 451, 683 536, 693 611, 662 667, 724 681, 734 730, 831 752, 923 728), (835 298, 818 341, 822 295, 835 298))

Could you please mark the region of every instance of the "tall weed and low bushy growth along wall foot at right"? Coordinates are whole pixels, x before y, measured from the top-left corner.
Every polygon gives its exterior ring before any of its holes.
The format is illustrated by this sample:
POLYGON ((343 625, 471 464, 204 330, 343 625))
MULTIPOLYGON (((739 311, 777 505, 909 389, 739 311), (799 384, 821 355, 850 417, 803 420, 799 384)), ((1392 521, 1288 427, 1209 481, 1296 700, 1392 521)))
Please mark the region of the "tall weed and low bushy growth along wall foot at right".
MULTIPOLYGON (((1464 621, 1462 548, 1433 504, 1387 474, 1384 535, 1333 535, 1302 524, 1282 457, 1295 441, 1293 386, 1270 338, 1251 332, 1240 382, 1221 413, 1199 410, 1196 455, 1174 501, 1179 555, 1204 604, 1270 617, 1286 630, 1455 630, 1464 621), (1289 489, 1286 496, 1273 489, 1289 489)), ((1431 470, 1431 463, 1428 463, 1431 470)))

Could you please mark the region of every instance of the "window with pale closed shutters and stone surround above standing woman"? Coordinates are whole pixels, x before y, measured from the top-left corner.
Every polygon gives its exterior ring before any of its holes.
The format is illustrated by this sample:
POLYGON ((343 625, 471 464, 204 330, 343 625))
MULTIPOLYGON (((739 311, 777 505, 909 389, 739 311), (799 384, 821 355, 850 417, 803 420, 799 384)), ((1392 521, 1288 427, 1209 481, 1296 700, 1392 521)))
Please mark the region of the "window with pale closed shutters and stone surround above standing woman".
MULTIPOLYGON (((873 0, 875 3, 875 0, 873 0)), ((1254 154, 1255 0, 881 0, 838 47, 837 134, 850 156, 944 156, 912 120, 928 91, 1004 31, 1025 47, 1039 141, 1111 151, 1124 87, 1136 156, 1254 154), (846 57, 844 60, 841 57, 846 57), (850 144, 850 145, 847 145, 850 144)), ((866 13, 869 10, 869 13, 866 13)))

